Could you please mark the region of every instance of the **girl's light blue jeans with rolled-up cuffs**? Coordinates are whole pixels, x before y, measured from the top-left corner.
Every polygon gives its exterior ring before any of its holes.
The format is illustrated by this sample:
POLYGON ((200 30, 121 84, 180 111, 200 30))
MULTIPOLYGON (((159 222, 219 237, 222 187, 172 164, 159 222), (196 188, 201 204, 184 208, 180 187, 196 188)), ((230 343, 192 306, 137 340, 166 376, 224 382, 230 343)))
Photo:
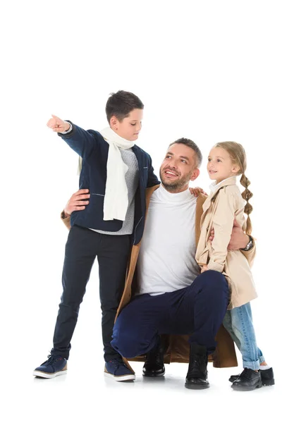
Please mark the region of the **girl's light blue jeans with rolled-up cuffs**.
POLYGON ((264 362, 264 356, 257 347, 250 302, 241 305, 241 307, 227 310, 223 319, 223 326, 230 333, 242 354, 243 367, 258 370, 259 364, 264 362))

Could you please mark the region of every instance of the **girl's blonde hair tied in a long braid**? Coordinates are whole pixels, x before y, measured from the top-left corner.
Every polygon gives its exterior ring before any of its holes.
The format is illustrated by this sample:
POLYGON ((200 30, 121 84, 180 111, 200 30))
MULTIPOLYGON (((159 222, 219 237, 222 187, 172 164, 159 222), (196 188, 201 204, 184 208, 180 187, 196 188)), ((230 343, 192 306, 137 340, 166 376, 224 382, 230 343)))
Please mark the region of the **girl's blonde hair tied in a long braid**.
POLYGON ((247 214, 246 233, 247 235, 250 235, 252 233, 252 223, 250 219, 250 213, 252 213, 252 205, 249 203, 249 200, 250 198, 252 198, 252 192, 247 189, 247 187, 250 185, 250 180, 247 178, 247 176, 245 176, 245 171, 247 168, 247 158, 245 149, 242 145, 238 144, 238 142, 233 141, 217 142, 214 147, 221 147, 225 149, 226 152, 228 152, 228 154, 230 155, 233 164, 239 166, 239 171, 236 173, 236 175, 242 175, 240 178, 240 183, 245 188, 245 190, 242 192, 242 197, 247 202, 244 209, 245 214, 247 214))

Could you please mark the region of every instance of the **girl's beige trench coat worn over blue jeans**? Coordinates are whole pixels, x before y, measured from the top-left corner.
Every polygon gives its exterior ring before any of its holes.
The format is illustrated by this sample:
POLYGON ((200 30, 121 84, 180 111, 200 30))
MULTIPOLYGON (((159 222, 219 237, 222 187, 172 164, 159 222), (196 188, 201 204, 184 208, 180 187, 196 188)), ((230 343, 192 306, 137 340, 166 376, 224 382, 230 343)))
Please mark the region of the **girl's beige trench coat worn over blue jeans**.
POLYGON ((198 264, 207 264, 209 269, 223 272, 226 276, 231 300, 228 309, 239 307, 257 298, 250 265, 255 258, 252 249, 250 264, 240 250, 227 250, 231 238, 234 216, 245 230, 245 201, 236 185, 236 178, 223 180, 211 192, 203 204, 201 217, 201 235, 197 245, 196 260, 198 264), (214 240, 209 240, 214 228, 214 240))

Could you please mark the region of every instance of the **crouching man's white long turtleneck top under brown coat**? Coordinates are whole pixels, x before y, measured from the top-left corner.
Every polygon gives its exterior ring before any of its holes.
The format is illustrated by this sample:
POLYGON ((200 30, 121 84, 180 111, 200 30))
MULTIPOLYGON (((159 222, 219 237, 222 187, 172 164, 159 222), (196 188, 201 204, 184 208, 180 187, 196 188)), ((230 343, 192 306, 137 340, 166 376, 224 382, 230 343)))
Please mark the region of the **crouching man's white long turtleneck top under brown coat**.
POLYGON ((153 192, 137 261, 138 294, 185 288, 199 275, 196 202, 189 190, 172 194, 161 185, 153 192))

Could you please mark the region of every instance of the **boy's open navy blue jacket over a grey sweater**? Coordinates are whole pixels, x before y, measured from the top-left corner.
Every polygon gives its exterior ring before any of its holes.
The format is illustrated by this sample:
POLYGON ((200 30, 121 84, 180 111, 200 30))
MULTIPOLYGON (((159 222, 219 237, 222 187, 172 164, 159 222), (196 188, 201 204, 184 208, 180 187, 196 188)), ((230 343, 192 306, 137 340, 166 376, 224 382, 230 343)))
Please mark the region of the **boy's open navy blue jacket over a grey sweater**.
MULTIPOLYGON (((70 121, 68 121, 70 122, 70 121)), ((66 134, 58 135, 82 157, 82 171, 79 187, 90 192, 90 202, 84 210, 71 214, 71 226, 79 225, 100 231, 116 232, 123 226, 123 221, 114 219, 103 220, 104 195, 106 190, 106 162, 109 144, 96 130, 84 130, 77 125, 66 134)), ((146 200, 145 190, 159 184, 154 174, 152 159, 144 150, 135 145, 133 152, 139 166, 139 184, 135 194, 135 216, 133 227, 133 244, 140 242, 144 231, 146 200)))

